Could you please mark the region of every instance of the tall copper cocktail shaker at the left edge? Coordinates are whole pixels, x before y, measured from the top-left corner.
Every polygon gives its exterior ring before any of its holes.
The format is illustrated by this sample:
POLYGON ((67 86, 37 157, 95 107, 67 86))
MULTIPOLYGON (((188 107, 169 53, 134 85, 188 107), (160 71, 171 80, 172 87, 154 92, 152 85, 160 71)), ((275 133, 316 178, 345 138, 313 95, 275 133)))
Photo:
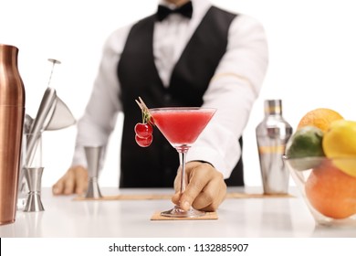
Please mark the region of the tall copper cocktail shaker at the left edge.
POLYGON ((18 48, 0 44, 0 224, 15 221, 25 88, 18 48))

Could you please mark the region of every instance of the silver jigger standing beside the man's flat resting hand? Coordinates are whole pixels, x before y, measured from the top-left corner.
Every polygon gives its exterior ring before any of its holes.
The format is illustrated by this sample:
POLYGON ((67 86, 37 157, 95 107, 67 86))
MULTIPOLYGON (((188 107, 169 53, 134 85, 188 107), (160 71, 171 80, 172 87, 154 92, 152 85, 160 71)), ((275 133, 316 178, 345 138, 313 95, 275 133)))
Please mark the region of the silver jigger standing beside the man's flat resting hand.
POLYGON ((87 157, 88 165, 88 190, 85 197, 99 198, 102 197, 98 184, 99 165, 102 146, 84 146, 85 155, 87 157))

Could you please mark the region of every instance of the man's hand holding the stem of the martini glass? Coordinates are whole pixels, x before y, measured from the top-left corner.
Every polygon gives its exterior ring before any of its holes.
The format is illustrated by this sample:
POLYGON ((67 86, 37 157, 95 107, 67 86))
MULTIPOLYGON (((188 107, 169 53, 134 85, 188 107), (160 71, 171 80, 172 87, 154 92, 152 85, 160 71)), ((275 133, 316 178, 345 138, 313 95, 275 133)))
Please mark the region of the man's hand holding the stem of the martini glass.
POLYGON ((174 180, 175 195, 172 201, 187 210, 191 206, 205 211, 214 211, 224 201, 226 184, 223 175, 212 165, 190 162, 185 165, 187 185, 180 195, 181 171, 174 180))

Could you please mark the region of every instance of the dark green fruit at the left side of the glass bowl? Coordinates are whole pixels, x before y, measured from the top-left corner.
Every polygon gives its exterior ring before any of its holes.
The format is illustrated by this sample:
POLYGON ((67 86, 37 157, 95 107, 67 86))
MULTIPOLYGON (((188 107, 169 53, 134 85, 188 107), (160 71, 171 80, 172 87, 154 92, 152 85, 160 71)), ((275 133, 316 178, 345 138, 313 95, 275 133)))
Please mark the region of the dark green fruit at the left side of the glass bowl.
POLYGON ((324 133, 315 126, 304 126, 294 133, 286 145, 286 156, 293 168, 302 171, 319 165, 324 133), (311 157, 311 158, 310 158, 311 157))

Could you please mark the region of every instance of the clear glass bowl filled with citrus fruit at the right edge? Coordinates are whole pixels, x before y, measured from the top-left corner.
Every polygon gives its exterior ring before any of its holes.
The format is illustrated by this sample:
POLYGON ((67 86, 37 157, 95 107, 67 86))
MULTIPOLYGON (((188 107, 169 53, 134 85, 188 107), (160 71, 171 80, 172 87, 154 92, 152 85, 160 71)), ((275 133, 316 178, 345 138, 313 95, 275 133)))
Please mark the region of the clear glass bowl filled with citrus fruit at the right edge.
POLYGON ((284 160, 318 224, 356 227, 356 122, 320 112, 303 116, 284 160))

